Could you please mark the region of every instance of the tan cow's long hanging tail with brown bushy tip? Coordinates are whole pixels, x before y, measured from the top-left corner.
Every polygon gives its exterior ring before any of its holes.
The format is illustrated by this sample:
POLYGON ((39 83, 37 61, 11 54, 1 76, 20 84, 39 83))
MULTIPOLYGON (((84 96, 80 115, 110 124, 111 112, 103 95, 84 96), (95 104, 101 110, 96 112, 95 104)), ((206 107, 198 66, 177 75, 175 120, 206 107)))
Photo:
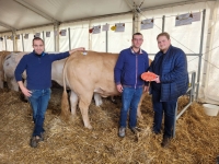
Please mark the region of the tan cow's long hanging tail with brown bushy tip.
MULTIPOLYGON (((68 58, 69 59, 69 58, 68 58)), ((62 93, 62 98, 61 98, 61 118, 65 120, 69 119, 70 116, 70 107, 69 107, 69 101, 68 101, 68 94, 66 91, 66 68, 67 68, 67 62, 68 59, 66 60, 66 63, 64 65, 64 72, 62 72, 62 78, 64 78, 64 93, 62 93)))

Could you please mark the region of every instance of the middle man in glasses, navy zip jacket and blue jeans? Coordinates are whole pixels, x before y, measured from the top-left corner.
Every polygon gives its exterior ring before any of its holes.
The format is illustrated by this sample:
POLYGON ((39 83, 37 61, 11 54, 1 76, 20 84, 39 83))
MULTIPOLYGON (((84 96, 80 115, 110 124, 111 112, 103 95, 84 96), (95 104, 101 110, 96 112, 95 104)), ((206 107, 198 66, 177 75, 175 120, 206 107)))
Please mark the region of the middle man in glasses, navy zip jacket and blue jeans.
POLYGON ((141 33, 132 35, 132 46, 124 49, 118 56, 114 68, 114 79, 118 92, 122 93, 122 109, 118 136, 125 137, 127 113, 129 110, 129 128, 137 132, 137 108, 142 91, 148 91, 147 83, 141 79, 141 73, 149 68, 148 54, 140 48, 143 43, 141 33))

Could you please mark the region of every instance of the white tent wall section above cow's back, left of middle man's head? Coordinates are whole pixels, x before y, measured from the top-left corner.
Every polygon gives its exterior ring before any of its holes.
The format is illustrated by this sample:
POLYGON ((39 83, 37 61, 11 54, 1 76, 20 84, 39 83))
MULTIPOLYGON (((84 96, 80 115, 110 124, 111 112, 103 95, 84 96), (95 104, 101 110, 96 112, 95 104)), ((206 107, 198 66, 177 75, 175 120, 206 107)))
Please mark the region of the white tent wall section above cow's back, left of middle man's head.
MULTIPOLYGON (((132 34, 132 14, 125 14, 118 16, 111 16, 104 19, 96 19, 91 21, 91 27, 96 25, 110 24, 108 34, 108 52, 119 52, 122 49, 131 46, 131 34, 132 34), (115 23, 125 23, 125 32, 111 31, 115 23)), ((91 34, 91 50, 106 51, 106 32, 100 34, 91 34)))

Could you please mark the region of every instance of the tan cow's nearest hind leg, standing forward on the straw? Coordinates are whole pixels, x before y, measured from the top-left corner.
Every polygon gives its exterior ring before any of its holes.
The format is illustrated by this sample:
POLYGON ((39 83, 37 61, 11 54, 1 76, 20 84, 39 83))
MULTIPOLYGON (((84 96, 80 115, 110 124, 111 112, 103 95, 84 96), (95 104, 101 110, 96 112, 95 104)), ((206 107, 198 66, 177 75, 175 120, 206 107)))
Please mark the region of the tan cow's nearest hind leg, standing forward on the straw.
POLYGON ((84 127, 89 129, 92 129, 92 126, 89 120, 89 105, 91 104, 92 96, 93 92, 88 91, 83 95, 80 95, 80 101, 79 101, 79 108, 81 110, 84 127))

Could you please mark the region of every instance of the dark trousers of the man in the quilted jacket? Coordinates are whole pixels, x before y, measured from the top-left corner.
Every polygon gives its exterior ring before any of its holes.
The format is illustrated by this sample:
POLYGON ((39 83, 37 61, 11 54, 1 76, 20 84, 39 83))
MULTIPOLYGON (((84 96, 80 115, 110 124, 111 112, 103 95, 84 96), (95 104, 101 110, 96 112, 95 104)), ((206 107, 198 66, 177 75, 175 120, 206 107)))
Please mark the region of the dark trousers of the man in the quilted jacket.
POLYGON ((161 132, 162 117, 164 113, 164 132, 163 137, 171 138, 175 118, 175 107, 177 99, 169 102, 160 102, 160 92, 153 91, 152 104, 154 110, 153 117, 153 131, 155 133, 161 132))

